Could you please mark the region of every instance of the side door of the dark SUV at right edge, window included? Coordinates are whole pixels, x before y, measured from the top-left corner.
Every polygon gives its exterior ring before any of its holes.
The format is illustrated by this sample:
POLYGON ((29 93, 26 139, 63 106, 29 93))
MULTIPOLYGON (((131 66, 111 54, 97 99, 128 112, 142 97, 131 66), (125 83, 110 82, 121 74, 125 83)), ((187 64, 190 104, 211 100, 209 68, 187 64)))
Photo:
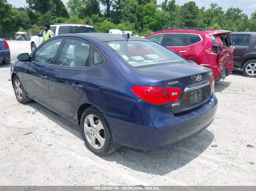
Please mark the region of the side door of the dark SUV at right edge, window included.
POLYGON ((251 34, 232 34, 232 45, 234 46, 234 66, 241 67, 244 58, 250 54, 251 34))

